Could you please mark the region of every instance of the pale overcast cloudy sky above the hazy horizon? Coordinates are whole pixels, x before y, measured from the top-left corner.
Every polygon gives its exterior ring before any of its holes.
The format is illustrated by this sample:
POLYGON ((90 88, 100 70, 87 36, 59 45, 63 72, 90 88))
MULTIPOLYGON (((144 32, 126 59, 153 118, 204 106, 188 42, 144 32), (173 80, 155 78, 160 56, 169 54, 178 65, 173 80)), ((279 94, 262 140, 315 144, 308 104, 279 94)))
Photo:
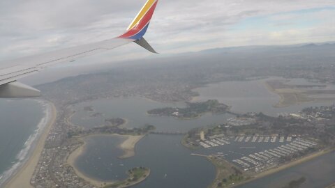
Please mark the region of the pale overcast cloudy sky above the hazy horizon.
MULTIPOLYGON (((1 0, 0 58, 114 38, 146 0, 1 0)), ((163 54, 335 41, 334 0, 159 0, 145 38, 163 54)), ((105 55, 140 58, 135 44, 105 55)), ((91 58, 91 60, 94 58, 91 58)))

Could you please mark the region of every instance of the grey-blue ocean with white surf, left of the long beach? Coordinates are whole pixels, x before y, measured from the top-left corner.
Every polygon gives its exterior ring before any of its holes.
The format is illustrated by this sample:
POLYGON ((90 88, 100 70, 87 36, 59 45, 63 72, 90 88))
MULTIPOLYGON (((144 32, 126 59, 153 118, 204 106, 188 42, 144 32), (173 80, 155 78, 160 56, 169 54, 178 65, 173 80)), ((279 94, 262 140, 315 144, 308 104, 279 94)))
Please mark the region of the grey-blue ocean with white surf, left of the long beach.
POLYGON ((0 100, 0 187, 27 160, 50 118, 39 100, 0 100))

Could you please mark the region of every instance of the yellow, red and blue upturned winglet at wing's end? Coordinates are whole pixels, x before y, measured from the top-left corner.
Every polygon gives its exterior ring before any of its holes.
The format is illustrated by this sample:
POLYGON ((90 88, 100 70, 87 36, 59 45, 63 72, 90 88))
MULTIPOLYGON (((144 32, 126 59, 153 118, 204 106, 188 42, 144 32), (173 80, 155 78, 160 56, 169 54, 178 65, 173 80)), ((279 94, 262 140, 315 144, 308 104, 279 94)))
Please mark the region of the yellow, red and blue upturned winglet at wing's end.
POLYGON ((128 26, 126 33, 118 38, 133 39, 138 45, 148 49, 150 52, 157 53, 143 38, 149 27, 151 17, 154 15, 157 3, 158 0, 148 0, 140 10, 140 13, 137 14, 133 22, 128 26))

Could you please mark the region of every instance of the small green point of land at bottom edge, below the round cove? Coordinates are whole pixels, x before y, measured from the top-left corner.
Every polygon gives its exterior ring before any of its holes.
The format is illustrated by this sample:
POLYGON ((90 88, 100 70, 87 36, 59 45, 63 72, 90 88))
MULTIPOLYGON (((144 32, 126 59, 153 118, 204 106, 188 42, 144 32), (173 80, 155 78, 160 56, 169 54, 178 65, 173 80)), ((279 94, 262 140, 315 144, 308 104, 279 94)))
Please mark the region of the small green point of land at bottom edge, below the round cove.
POLYGON ((136 167, 127 172, 128 178, 125 180, 114 182, 110 185, 105 185, 103 188, 124 188, 136 185, 148 178, 150 169, 145 167, 136 167))

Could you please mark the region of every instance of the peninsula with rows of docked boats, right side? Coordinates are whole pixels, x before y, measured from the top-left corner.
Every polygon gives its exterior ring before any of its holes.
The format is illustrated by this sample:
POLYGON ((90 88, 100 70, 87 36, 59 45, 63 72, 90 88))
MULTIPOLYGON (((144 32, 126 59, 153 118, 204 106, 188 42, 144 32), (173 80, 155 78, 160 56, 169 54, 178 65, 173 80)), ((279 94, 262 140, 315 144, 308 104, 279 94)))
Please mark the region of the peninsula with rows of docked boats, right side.
POLYGON ((299 113, 278 117, 246 113, 228 120, 228 123, 191 130, 182 143, 192 150, 230 143, 252 143, 254 148, 263 143, 273 145, 267 150, 229 160, 225 158, 228 152, 225 150, 225 153, 211 155, 193 154, 207 157, 216 166, 216 179, 210 187, 233 187, 333 151, 334 117, 335 105, 309 107, 299 113))

